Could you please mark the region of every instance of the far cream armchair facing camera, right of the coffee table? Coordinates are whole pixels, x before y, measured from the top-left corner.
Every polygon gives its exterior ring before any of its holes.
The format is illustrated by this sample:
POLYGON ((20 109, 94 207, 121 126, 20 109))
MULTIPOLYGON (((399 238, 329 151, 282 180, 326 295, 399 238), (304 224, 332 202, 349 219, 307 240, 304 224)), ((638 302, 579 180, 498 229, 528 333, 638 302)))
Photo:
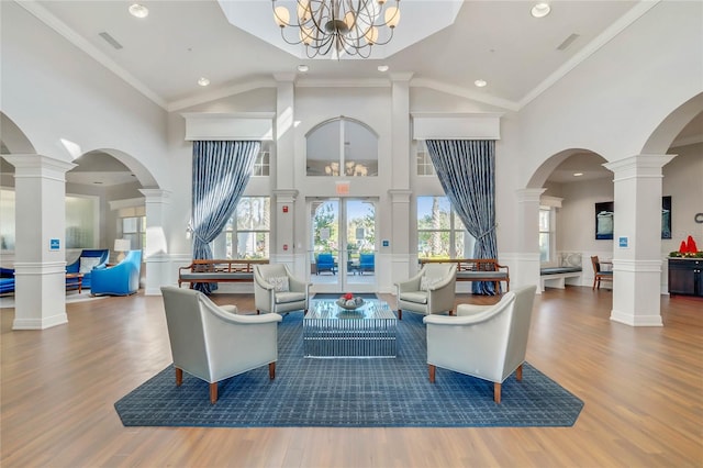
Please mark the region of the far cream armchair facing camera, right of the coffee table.
POLYGON ((426 264, 406 281, 397 283, 398 320, 403 311, 429 315, 454 310, 456 296, 456 264, 426 264))

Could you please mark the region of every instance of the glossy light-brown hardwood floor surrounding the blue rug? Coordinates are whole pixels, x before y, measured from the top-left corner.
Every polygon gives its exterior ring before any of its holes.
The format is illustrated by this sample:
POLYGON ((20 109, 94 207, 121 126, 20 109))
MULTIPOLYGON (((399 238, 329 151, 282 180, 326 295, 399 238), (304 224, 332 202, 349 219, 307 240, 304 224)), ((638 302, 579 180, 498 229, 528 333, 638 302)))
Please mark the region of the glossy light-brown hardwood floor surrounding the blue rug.
MULTIPOLYGON (((254 310, 253 296, 215 301, 254 310)), ((13 332, 2 309, 0 465, 703 466, 703 300, 662 297, 665 326, 638 328, 611 322, 611 302, 588 287, 537 297, 527 360, 585 403, 573 427, 545 428, 123 427, 114 402, 171 361, 160 297, 68 304, 69 323, 41 332, 13 332)))

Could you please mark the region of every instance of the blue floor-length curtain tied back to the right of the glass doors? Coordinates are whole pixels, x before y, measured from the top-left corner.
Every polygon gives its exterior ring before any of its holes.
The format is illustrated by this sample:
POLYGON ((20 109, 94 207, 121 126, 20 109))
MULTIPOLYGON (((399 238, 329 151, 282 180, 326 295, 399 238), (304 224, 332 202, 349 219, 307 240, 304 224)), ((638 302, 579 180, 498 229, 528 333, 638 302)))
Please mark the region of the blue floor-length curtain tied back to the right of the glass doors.
MULTIPOLYGON (((476 238, 473 258, 498 258, 495 237, 495 142, 492 140, 427 140, 439 182, 469 234, 476 238)), ((478 294, 495 294, 492 282, 476 281, 478 294)))

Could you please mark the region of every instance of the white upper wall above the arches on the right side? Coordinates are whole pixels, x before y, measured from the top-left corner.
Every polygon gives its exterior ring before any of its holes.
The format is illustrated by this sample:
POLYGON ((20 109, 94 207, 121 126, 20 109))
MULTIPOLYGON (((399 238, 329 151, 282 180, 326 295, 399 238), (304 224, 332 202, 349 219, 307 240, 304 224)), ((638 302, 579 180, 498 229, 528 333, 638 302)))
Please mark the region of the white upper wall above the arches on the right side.
POLYGON ((609 161, 640 154, 659 123, 703 91, 702 10, 701 2, 658 3, 524 108, 523 185, 562 149, 609 161))

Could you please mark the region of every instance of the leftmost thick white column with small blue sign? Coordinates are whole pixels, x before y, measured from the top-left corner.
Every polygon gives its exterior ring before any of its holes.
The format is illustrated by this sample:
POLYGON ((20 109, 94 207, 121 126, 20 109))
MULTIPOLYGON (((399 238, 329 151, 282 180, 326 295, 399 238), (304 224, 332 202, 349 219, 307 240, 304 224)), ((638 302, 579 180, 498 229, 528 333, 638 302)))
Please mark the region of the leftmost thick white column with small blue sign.
POLYGON ((66 171, 75 164, 5 155, 14 166, 13 330, 44 330, 66 315, 66 171))

